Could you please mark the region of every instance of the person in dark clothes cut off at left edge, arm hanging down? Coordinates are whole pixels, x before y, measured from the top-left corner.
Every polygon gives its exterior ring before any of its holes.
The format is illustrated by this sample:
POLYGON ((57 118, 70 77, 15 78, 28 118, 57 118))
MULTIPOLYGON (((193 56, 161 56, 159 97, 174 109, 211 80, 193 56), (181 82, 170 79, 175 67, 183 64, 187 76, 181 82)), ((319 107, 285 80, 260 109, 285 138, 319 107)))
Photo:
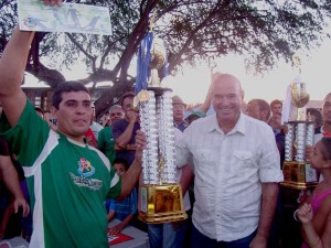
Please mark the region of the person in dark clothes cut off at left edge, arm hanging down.
MULTIPOLYGON (((0 222, 0 239, 6 237, 7 228, 10 223, 12 214, 18 214, 21 208, 22 216, 26 217, 30 213, 30 206, 26 202, 23 192, 21 190, 20 182, 24 180, 24 172, 20 168, 14 166, 13 155, 11 154, 8 143, 4 139, 0 138, 0 182, 4 184, 6 188, 12 194, 13 198, 9 198, 9 204, 1 211, 0 222), (20 172, 20 176, 19 173, 20 172)), ((1 186, 2 188, 2 186, 1 186)), ((1 202, 6 201, 1 193, 1 202)), ((2 204, 1 204, 2 205, 2 204)), ((15 224, 18 228, 18 224, 15 224)))

